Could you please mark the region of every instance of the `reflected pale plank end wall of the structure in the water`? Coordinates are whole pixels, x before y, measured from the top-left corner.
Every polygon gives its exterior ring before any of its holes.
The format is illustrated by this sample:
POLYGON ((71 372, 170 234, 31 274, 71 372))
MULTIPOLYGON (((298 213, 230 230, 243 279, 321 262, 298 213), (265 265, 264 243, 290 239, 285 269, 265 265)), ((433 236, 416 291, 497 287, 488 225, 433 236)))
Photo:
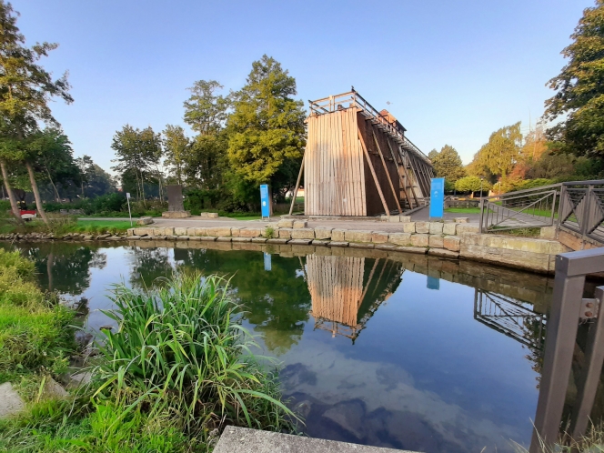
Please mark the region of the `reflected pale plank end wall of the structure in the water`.
POLYGON ((312 316, 357 327, 363 296, 365 258, 307 256, 312 316))

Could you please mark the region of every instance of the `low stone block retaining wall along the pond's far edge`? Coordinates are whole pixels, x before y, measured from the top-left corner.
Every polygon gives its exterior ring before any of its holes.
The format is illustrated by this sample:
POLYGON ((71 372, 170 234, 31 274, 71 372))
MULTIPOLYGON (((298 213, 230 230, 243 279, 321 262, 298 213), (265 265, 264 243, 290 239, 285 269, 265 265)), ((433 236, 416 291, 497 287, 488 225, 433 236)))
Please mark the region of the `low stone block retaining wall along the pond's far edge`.
POLYGON ((308 228, 289 221, 263 227, 140 227, 128 229, 129 240, 217 241, 290 246, 377 249, 468 258, 535 272, 551 273, 554 258, 569 251, 556 240, 478 234, 478 224, 404 222, 400 232, 308 228))

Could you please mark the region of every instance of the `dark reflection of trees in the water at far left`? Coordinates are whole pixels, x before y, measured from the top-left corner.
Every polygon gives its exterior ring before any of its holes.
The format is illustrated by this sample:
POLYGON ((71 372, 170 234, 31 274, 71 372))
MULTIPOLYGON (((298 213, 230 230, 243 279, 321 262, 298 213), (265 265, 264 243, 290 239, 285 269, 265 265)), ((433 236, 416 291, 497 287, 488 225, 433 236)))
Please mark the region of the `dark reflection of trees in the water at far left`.
POLYGON ((90 286, 90 268, 106 267, 106 254, 81 244, 39 243, 20 247, 35 261, 40 286, 77 296, 90 286))

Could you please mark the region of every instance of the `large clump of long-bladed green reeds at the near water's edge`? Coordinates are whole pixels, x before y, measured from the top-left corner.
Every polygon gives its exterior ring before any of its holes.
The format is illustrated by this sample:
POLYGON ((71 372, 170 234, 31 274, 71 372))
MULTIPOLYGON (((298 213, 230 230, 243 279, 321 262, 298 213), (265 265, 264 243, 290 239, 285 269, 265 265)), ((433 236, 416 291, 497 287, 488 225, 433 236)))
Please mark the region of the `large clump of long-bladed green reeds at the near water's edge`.
POLYGON ((276 376, 250 352, 253 338, 227 287, 199 274, 145 291, 117 286, 116 309, 106 315, 119 327, 106 331, 96 397, 119 401, 124 414, 172 414, 173 424, 202 441, 226 425, 291 429, 276 376))

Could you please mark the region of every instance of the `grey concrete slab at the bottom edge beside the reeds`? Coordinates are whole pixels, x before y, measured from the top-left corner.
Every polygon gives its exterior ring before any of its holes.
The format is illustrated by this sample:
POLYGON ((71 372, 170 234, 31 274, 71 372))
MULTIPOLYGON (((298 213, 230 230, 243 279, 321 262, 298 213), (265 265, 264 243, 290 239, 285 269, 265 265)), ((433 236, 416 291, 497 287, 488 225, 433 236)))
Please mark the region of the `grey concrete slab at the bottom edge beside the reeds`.
POLYGON ((313 453, 403 453, 404 450, 367 447, 335 440, 303 438, 237 427, 225 428, 214 449, 214 453, 307 453, 310 451, 313 453))

